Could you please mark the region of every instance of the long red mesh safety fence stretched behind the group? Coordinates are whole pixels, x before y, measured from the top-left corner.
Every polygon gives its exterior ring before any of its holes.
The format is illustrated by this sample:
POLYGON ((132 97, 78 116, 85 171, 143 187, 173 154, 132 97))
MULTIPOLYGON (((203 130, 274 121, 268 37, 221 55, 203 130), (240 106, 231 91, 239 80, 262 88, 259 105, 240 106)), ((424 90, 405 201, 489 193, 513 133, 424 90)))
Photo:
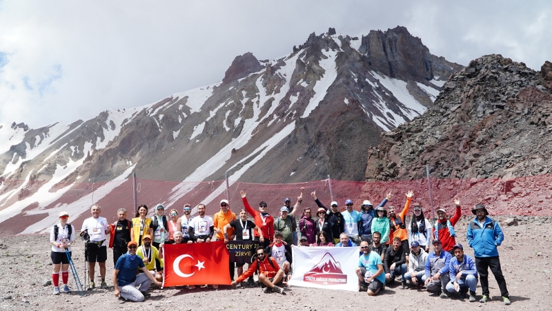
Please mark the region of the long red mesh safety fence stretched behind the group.
POLYGON ((152 215, 158 203, 165 205, 166 214, 172 208, 181 214, 185 203, 193 206, 204 203, 207 214, 212 215, 219 210, 219 201, 227 196, 230 208, 238 212, 243 208, 240 190, 246 192, 253 208, 256 209, 260 201, 266 201, 268 211, 275 216, 284 205, 284 199, 289 198, 292 205, 297 201, 301 188, 305 188, 301 210, 317 208, 311 197, 313 191, 326 206, 333 200, 344 209, 345 200, 352 199, 355 209, 359 210, 363 200, 369 199, 377 205, 388 192, 392 196, 386 206, 402 208, 406 201, 404 194, 413 190, 413 203, 422 205, 426 217, 431 217, 431 200, 435 209, 445 208, 452 213, 454 197, 460 198, 462 214, 471 214, 471 208, 476 203, 483 203, 495 215, 551 216, 551 181, 549 174, 510 180, 431 179, 430 197, 426 179, 386 182, 324 179, 284 184, 243 183, 230 179, 228 193, 226 181, 125 179, 104 183, 52 184, 46 181, 0 180, 0 233, 12 235, 49 232, 52 225, 57 223, 62 210, 69 212, 70 223, 79 230, 83 219, 90 217, 90 206, 95 203, 101 206, 101 216, 110 222, 116 221, 117 209, 126 208, 130 219, 134 217, 135 207, 141 204, 148 205, 149 215, 152 215))

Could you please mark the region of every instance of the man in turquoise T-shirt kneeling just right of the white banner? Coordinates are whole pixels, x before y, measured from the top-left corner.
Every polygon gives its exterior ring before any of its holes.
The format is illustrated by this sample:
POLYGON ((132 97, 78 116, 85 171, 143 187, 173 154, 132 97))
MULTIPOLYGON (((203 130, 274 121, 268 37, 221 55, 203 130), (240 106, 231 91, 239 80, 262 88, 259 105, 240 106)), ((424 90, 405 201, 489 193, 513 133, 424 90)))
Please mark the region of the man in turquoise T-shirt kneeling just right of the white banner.
POLYGON ((382 258, 376 252, 370 250, 368 242, 360 242, 360 250, 362 255, 358 259, 358 267, 356 269, 357 277, 360 281, 360 291, 369 296, 375 296, 385 283, 384 265, 382 258))

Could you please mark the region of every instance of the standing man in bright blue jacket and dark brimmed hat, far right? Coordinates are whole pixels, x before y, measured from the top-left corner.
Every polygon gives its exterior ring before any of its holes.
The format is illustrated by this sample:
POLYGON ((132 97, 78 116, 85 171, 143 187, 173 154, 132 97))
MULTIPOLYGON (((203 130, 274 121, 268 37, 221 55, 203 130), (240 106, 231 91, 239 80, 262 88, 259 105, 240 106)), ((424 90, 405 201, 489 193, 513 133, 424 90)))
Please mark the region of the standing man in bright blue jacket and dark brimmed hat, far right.
POLYGON ((481 276, 483 296, 480 302, 484 303, 491 299, 489 295, 489 268, 491 268, 491 272, 493 272, 498 283, 498 288, 500 288, 502 300, 505 305, 509 305, 508 288, 506 288, 506 280, 504 280, 504 275, 502 275, 497 250, 497 246, 504 241, 502 229, 500 229, 500 225, 496 221, 487 217, 489 212, 487 212, 484 205, 475 205, 475 208, 471 212, 476 217, 468 226, 466 239, 470 247, 473 248, 475 265, 477 266, 477 272, 481 276))

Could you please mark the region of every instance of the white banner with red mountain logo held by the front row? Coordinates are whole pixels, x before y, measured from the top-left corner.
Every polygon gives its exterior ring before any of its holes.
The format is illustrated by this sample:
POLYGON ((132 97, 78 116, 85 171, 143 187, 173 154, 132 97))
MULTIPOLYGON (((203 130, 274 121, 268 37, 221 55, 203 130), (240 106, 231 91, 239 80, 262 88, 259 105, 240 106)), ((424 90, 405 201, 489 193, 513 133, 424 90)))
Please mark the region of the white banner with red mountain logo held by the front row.
POLYGON ((289 285, 358 292, 359 249, 294 246, 289 285))

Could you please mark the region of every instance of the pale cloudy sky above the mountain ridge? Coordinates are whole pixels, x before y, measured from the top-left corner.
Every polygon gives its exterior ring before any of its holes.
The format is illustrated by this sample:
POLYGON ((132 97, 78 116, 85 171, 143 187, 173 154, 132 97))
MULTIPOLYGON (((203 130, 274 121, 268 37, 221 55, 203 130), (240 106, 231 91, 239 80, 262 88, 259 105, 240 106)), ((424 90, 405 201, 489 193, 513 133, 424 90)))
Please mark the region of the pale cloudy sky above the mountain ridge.
POLYGON ((142 106, 220 81, 239 54, 281 57, 329 27, 360 37, 406 26, 463 65, 491 53, 535 70, 552 61, 550 1, 443 2, 0 0, 0 123, 142 106))

